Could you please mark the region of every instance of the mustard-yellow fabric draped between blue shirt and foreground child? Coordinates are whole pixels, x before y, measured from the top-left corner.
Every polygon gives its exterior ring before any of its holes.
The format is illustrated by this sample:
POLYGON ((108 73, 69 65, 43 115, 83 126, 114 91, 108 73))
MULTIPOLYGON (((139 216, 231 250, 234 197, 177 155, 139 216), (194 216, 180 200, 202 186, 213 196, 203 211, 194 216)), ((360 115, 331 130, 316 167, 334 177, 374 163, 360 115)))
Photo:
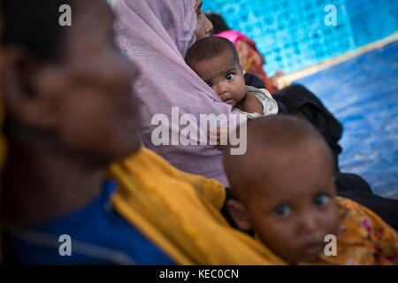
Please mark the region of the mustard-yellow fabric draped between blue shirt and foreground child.
POLYGON ((112 164, 113 205, 177 264, 285 264, 219 213, 224 187, 181 172, 149 149, 112 164))

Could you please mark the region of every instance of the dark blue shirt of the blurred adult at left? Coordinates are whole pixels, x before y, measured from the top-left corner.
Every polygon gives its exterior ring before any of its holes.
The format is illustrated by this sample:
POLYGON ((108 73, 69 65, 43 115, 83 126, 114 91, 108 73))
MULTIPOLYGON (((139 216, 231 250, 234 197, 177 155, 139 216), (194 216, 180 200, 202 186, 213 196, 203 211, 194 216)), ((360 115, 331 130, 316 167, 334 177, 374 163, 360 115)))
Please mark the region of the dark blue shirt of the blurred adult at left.
POLYGON ((4 233, 4 263, 173 264, 113 210, 111 194, 115 188, 114 182, 106 181, 103 193, 82 210, 22 231, 8 229, 10 232, 4 233), (64 237, 59 241, 61 235, 70 236, 71 256, 65 255, 68 240, 64 237))

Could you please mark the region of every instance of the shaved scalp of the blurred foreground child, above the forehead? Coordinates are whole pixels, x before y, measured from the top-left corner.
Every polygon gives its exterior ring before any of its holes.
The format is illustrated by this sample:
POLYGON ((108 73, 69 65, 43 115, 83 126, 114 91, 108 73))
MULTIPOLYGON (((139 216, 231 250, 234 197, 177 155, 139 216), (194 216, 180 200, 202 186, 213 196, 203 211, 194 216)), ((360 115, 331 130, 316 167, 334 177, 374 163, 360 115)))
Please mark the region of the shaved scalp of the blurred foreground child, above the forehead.
MULTIPOLYGON (((244 155, 230 155, 224 150, 223 162, 233 194, 243 201, 249 195, 249 188, 256 183, 270 179, 267 172, 276 169, 293 170, 289 160, 298 155, 313 153, 325 160, 333 171, 333 155, 322 135, 309 123, 287 115, 269 116, 249 120, 247 144, 244 155)), ((303 164, 305 165, 305 164, 303 164)))

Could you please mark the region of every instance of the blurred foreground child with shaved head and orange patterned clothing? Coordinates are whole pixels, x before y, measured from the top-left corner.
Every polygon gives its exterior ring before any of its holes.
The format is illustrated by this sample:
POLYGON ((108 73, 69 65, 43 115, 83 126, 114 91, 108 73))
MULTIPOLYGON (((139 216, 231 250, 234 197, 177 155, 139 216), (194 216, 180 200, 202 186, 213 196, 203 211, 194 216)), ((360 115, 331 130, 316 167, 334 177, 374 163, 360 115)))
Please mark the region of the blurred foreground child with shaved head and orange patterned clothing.
POLYGON ((247 126, 246 153, 223 152, 239 229, 289 264, 398 264, 394 229, 336 196, 333 155, 313 126, 286 115, 247 126))

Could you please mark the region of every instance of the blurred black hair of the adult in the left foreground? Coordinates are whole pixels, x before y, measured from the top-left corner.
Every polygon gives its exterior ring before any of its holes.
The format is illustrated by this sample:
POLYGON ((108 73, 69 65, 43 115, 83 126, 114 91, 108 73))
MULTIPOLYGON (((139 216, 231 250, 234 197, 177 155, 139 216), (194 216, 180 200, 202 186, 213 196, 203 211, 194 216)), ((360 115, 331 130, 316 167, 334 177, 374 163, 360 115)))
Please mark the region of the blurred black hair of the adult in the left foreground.
POLYGON ((61 59, 66 28, 59 25, 59 7, 74 0, 1 1, 2 45, 19 45, 43 61, 61 59))

